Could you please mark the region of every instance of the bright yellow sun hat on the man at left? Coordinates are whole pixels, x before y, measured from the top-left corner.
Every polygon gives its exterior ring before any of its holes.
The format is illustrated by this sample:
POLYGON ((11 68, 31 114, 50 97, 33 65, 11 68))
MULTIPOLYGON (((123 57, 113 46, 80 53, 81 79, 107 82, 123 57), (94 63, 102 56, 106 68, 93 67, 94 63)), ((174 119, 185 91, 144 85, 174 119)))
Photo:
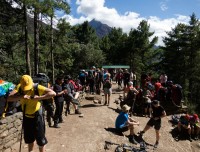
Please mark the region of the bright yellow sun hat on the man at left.
POLYGON ((21 89, 28 91, 33 88, 33 79, 29 75, 23 75, 20 79, 21 89))

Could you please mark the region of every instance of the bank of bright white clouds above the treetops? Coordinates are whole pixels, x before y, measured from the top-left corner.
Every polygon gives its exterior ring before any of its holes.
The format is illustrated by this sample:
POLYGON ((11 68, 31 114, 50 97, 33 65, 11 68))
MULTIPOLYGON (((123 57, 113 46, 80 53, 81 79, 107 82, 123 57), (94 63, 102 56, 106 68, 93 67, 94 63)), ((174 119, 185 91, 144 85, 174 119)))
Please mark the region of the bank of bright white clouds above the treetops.
MULTIPOLYGON (((165 1, 167 2, 167 1, 165 1)), ((126 12, 119 14, 115 8, 106 7, 105 0, 77 0, 77 13, 82 15, 80 18, 74 18, 70 15, 65 15, 71 25, 83 23, 85 20, 96 19, 110 27, 120 27, 124 32, 129 32, 131 28, 137 28, 142 20, 147 20, 150 24, 150 30, 154 31, 154 36, 159 37, 158 45, 163 45, 162 37, 166 36, 166 31, 170 31, 178 23, 188 23, 189 17, 176 14, 174 18, 160 19, 156 16, 148 18, 141 17, 135 12, 126 12)))

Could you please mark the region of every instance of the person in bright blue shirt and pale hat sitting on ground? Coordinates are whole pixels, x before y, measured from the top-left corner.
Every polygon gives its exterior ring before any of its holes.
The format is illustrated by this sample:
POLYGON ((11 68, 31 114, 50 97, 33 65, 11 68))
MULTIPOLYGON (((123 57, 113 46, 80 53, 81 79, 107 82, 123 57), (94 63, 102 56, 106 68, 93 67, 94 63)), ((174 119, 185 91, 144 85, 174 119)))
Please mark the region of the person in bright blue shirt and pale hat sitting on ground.
POLYGON ((130 107, 124 105, 122 107, 122 112, 118 115, 115 121, 115 127, 119 130, 119 132, 125 132, 130 130, 129 140, 130 142, 137 144, 137 141, 134 139, 134 125, 139 125, 140 123, 133 118, 129 117, 128 112, 130 107))

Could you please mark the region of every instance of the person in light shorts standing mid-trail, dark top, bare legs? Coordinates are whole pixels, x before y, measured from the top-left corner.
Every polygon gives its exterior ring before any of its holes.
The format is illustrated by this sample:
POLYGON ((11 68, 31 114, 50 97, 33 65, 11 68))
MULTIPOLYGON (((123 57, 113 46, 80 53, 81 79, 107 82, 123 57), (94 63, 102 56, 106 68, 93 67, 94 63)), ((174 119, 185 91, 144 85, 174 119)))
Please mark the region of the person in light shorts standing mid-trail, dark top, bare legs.
POLYGON ((111 82, 110 74, 106 75, 106 79, 104 80, 103 83, 103 91, 104 91, 104 96, 105 96, 105 103, 104 105, 109 106, 110 104, 110 96, 112 94, 112 82, 111 82))

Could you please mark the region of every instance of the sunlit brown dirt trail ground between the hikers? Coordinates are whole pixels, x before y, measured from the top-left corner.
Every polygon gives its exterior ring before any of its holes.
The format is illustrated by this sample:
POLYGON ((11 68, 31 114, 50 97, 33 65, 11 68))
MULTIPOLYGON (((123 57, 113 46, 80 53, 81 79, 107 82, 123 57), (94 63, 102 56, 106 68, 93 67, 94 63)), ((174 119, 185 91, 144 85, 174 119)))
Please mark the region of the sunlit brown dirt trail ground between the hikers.
MULTIPOLYGON (((113 86, 114 88, 116 85, 113 86)), ((83 100, 81 112, 84 117, 78 115, 63 116, 64 123, 60 124, 61 128, 47 127, 46 136, 48 144, 46 145, 47 152, 104 152, 105 141, 114 143, 126 143, 132 145, 126 135, 119 136, 112 132, 114 122, 118 115, 116 112, 117 105, 113 103, 119 94, 112 94, 112 101, 109 107, 103 104, 94 104, 92 100, 83 100), (108 131, 110 130, 110 131, 108 131)), ((149 118, 133 116, 134 119, 140 121, 140 126, 135 128, 135 132, 139 132, 144 128, 149 118)), ((168 122, 170 116, 163 118, 161 139, 159 147, 153 150, 151 146, 147 151, 158 152, 199 152, 199 141, 190 143, 188 140, 176 142, 172 134, 173 129, 171 123, 168 122)), ((150 129, 144 134, 143 139, 150 144, 155 143, 155 131, 150 129)), ((35 146, 34 151, 38 151, 35 146)), ((114 152, 116 146, 112 145, 107 152, 114 152)), ((19 151, 19 143, 15 144, 12 151, 19 151)), ((27 152, 27 145, 22 144, 22 152, 27 152)))

